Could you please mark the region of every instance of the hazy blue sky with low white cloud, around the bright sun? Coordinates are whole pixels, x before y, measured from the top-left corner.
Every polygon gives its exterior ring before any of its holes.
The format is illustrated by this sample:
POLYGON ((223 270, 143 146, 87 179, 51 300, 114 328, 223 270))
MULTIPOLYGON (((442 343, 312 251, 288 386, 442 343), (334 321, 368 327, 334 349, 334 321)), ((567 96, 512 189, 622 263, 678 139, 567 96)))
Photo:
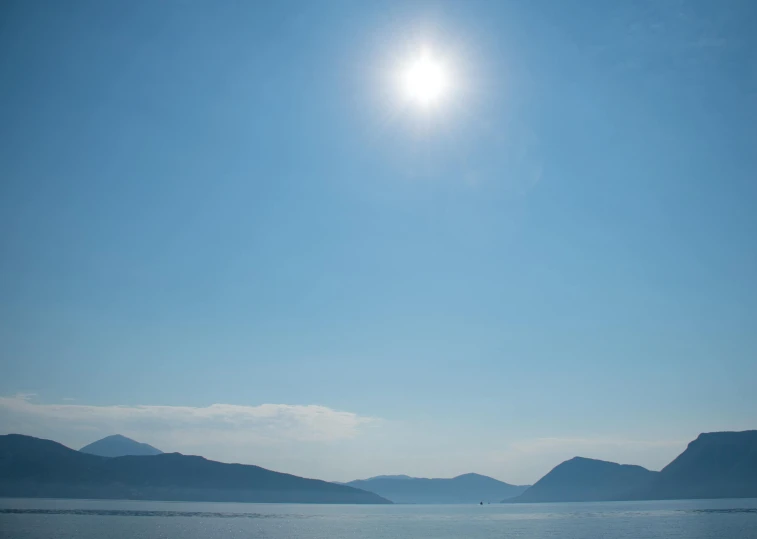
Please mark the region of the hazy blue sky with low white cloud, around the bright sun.
POLYGON ((3 2, 0 431, 526 483, 757 427, 756 25, 3 2))

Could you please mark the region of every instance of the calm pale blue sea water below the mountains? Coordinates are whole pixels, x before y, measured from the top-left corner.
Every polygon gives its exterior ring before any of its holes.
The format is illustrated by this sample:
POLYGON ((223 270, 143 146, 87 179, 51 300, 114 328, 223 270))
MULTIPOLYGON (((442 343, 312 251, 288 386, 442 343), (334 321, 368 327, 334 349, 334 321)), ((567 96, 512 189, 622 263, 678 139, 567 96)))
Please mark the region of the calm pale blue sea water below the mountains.
POLYGON ((757 539, 757 499, 289 505, 0 499, 14 539, 757 539))

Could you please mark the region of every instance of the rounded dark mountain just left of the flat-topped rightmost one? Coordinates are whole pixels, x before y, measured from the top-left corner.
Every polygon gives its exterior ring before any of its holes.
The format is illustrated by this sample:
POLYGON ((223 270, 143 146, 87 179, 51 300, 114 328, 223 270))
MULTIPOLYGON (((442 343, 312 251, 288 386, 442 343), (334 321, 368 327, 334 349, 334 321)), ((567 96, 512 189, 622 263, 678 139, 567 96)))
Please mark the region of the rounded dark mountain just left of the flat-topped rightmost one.
POLYGON ((659 472, 641 466, 575 457, 557 465, 523 494, 505 502, 626 500, 647 488, 659 472))

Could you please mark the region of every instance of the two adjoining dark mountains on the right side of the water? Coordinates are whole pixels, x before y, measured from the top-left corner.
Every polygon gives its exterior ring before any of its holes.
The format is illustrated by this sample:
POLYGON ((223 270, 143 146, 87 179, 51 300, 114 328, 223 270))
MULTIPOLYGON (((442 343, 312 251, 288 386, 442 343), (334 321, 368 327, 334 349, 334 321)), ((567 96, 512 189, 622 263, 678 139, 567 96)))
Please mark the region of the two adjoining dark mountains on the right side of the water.
POLYGON ((757 430, 700 434, 659 472, 576 457, 510 503, 757 497, 757 430))

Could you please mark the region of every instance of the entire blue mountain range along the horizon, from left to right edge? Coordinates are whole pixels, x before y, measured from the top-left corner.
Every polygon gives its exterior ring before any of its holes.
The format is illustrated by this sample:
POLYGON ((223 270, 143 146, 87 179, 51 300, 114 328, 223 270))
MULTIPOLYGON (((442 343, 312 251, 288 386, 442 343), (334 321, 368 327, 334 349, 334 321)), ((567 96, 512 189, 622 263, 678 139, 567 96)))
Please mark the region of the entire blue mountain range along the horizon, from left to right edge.
POLYGON ((575 457, 530 487, 478 474, 328 483, 259 466, 161 453, 119 435, 75 451, 51 440, 8 434, 0 436, 0 496, 292 503, 746 498, 757 497, 757 431, 700 434, 659 472, 575 457))

